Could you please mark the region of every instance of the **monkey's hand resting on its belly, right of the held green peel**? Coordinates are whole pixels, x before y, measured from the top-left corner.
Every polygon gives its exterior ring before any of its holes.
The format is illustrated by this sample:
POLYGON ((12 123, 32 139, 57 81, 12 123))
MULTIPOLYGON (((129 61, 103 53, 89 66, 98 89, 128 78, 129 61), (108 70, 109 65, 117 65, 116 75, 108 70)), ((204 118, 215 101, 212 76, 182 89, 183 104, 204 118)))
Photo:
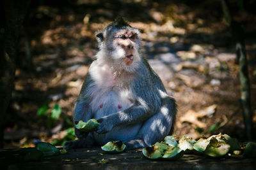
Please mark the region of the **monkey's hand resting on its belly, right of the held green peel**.
POLYGON ((102 117, 97 122, 100 123, 96 131, 98 134, 106 134, 113 129, 114 124, 110 117, 102 117))

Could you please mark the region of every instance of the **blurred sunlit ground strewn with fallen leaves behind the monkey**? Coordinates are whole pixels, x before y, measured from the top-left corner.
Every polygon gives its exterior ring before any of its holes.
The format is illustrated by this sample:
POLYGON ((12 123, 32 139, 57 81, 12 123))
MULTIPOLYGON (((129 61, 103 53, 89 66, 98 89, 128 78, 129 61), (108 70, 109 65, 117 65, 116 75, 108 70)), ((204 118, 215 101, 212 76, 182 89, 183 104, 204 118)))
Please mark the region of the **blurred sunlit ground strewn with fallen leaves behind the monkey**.
MULTIPOLYGON (((230 1, 230 14, 245 32, 255 128, 256 2, 239 2, 230 1)), ((118 16, 140 29, 145 57, 177 100, 176 139, 222 132, 246 141, 236 42, 221 1, 40 0, 20 30, 5 148, 76 138, 72 113, 98 50, 95 32, 118 16)))

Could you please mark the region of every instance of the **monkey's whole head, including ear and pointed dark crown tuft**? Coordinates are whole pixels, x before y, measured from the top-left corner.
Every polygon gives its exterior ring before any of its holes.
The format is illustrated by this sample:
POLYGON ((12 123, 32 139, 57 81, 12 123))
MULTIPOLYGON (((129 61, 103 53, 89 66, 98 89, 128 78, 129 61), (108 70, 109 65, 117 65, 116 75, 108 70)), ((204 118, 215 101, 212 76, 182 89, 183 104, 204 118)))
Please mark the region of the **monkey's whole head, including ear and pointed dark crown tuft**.
POLYGON ((122 17, 116 18, 104 31, 96 34, 100 51, 97 57, 104 57, 110 64, 133 72, 140 63, 140 31, 131 27, 122 17))

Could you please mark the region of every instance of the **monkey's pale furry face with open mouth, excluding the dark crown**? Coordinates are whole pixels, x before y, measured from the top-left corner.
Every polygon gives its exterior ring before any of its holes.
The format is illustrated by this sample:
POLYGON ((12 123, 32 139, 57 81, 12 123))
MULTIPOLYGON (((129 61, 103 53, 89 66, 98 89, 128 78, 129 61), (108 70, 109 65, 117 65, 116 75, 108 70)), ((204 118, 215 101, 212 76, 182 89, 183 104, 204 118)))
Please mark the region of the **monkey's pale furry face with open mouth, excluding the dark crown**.
MULTIPOLYGON (((138 29, 114 29, 104 31, 101 50, 108 53, 108 60, 126 71, 135 71, 139 66, 140 35, 138 29)), ((99 38, 99 37, 98 37, 99 38)))

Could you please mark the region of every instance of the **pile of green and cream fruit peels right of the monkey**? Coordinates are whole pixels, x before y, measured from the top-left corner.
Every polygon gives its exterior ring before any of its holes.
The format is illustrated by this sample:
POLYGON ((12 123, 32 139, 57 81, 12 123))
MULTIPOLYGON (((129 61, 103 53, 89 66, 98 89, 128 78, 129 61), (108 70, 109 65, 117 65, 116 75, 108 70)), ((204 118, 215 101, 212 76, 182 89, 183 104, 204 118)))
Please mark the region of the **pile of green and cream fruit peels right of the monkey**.
MULTIPOLYGON (((173 136, 166 136, 164 141, 157 142, 151 147, 143 148, 142 153, 148 159, 176 160, 189 151, 203 153, 209 157, 222 157, 228 152, 241 153, 239 150, 241 148, 237 139, 220 133, 209 138, 201 138, 198 141, 184 135, 179 139, 178 143, 173 136)), ((253 154, 255 156, 254 152, 249 155, 253 154)))

